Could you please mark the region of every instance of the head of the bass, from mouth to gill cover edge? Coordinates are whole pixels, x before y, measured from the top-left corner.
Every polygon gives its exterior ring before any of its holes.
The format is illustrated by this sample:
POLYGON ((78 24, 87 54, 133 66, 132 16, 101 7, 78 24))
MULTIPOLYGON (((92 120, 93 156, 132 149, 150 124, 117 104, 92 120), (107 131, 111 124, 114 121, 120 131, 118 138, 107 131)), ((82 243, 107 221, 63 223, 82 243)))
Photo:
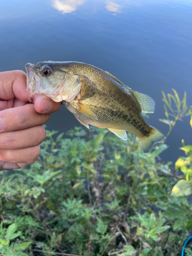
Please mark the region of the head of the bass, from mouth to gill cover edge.
POLYGON ((69 62, 43 61, 27 63, 27 91, 29 101, 46 95, 56 102, 72 102, 80 91, 80 77, 70 72, 69 62))

